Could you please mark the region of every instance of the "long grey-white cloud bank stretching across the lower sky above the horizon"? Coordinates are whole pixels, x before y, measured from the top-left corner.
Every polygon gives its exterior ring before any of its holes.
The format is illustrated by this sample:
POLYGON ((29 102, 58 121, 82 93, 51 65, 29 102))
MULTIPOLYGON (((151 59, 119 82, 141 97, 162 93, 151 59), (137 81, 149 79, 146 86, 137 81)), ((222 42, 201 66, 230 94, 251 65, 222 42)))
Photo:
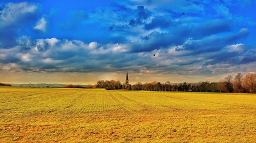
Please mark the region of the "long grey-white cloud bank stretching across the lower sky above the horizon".
MULTIPOLYGON (((0 63, 5 66, 2 70, 13 70, 10 64, 15 64, 18 71, 28 72, 112 72, 132 69, 134 72, 214 74, 220 72, 217 70, 220 63, 235 66, 256 60, 255 50, 243 43, 223 46, 215 52, 199 52, 195 56, 195 49, 178 50, 184 49, 184 45, 133 53, 129 52, 130 44, 87 44, 79 40, 56 38, 34 41, 28 37, 21 39, 26 39, 26 42, 20 42, 15 48, 1 50, 0 63), (24 44, 30 48, 20 52, 24 50, 24 44), (10 56, 16 61, 5 63, 10 56), (187 70, 189 72, 185 72, 187 70)), ((227 68, 221 67, 223 71, 227 71, 227 68)))

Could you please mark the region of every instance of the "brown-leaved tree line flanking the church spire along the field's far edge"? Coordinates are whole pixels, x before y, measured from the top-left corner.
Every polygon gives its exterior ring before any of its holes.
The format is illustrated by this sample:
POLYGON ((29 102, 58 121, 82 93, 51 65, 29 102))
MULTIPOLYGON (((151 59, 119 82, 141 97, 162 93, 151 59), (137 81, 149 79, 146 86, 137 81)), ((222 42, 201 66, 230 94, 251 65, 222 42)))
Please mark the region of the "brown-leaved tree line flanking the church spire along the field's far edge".
MULTIPOLYGON (((95 88, 106 90, 124 89, 124 83, 115 80, 99 80, 95 88)), ((132 85, 132 90, 143 91, 183 91, 183 92, 225 92, 225 93, 256 93, 256 73, 249 72, 246 75, 238 73, 236 76, 226 76, 218 82, 200 81, 193 83, 166 82, 137 82, 132 85)))

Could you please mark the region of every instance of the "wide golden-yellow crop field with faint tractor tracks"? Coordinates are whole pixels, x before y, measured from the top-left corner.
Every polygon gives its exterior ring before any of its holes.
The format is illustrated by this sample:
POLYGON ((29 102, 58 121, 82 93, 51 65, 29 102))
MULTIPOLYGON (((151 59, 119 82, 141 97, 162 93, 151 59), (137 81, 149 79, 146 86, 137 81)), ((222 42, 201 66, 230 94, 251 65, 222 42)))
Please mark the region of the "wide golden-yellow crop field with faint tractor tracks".
POLYGON ((256 95, 0 87, 0 142, 256 142, 256 95))

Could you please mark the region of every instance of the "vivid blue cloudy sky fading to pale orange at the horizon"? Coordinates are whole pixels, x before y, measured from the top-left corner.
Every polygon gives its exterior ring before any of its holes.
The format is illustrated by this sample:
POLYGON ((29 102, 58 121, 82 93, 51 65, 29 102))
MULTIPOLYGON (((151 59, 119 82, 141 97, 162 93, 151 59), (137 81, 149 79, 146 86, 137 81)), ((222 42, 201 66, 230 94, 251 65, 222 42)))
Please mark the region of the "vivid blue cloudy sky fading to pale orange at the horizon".
POLYGON ((0 1, 0 82, 218 81, 256 71, 256 0, 0 1), (155 54, 155 56, 154 56, 155 54))

